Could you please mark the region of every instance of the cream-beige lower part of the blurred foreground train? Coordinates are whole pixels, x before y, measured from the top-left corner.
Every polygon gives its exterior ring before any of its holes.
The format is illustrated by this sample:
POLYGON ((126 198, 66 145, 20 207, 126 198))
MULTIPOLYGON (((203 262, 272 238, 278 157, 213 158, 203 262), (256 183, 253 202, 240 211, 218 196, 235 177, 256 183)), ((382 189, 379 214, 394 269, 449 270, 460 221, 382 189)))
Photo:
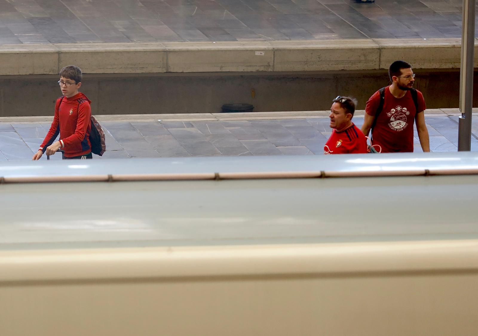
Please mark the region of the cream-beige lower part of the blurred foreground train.
POLYGON ((476 241, 0 253, 0 329, 476 335, 476 241))

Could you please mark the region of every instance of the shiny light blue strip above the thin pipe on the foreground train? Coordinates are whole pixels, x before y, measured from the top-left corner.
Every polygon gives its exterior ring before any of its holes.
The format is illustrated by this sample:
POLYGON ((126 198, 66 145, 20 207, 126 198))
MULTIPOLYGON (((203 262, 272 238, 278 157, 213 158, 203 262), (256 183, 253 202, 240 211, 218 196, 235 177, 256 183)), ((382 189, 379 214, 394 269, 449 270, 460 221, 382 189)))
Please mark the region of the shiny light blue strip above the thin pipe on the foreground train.
POLYGON ((329 156, 261 156, 41 160, 2 162, 0 177, 54 177, 130 174, 195 174, 231 172, 349 172, 476 170, 478 153, 398 153, 329 156))

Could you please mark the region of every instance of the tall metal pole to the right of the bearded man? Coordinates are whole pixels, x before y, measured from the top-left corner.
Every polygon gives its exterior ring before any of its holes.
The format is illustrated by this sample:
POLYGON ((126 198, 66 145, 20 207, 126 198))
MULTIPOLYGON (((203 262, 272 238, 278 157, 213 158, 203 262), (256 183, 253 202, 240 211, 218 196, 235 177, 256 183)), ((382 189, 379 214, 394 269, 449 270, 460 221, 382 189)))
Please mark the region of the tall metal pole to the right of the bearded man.
POLYGON ((473 108, 473 62, 475 50, 475 3, 463 0, 461 35, 460 112, 458 118, 458 150, 471 149, 471 109, 473 108))

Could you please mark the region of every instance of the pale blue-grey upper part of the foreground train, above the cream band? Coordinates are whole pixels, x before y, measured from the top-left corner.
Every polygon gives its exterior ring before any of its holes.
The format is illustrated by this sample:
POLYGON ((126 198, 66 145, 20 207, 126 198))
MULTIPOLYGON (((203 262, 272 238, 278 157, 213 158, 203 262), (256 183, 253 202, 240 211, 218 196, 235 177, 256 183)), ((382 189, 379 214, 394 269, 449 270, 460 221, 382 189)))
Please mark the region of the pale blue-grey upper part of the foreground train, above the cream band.
MULTIPOLYGON (((34 162, 20 174, 477 168, 473 153, 34 162), (77 168, 75 166, 84 168, 77 168)), ((13 169, 3 172, 19 174, 13 169)), ((478 239, 478 175, 0 185, 0 249, 478 239), (472 210, 470 210, 472 209, 472 210)))

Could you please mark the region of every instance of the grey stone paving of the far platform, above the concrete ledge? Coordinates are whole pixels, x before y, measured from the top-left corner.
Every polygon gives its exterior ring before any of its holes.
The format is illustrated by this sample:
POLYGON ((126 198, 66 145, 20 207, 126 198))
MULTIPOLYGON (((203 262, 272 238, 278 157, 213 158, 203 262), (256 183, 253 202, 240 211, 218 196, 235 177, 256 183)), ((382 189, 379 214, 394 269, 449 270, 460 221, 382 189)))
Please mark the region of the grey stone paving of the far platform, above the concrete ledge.
POLYGON ((0 44, 456 38, 461 7, 462 0, 0 0, 0 44))

